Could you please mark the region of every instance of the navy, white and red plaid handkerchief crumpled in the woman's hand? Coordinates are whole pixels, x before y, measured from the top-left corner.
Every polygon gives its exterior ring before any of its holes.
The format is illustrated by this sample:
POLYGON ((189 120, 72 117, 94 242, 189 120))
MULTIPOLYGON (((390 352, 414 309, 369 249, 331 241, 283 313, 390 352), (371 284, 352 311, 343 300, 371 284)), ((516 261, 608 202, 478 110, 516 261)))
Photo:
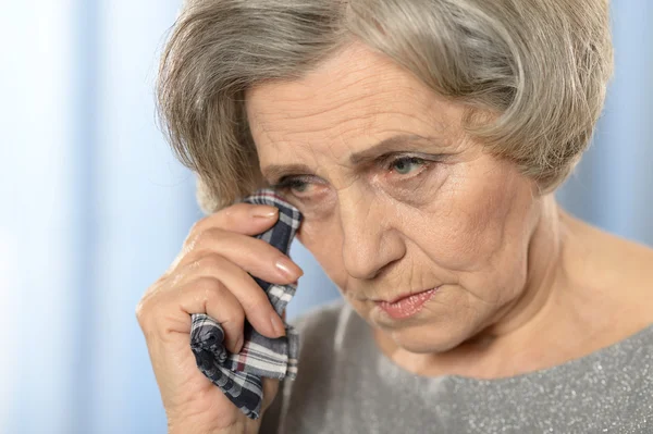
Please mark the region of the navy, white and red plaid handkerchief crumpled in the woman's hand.
MULTIPOLYGON (((257 235, 288 253, 291 241, 299 227, 301 214, 272 189, 261 189, 243 202, 279 208, 279 221, 269 231, 257 235)), ((296 286, 274 285, 254 277, 266 292, 276 313, 281 315, 295 295, 296 286)), ((294 380, 297 374, 298 336, 286 324, 286 335, 271 339, 259 334, 245 321, 245 340, 239 354, 230 354, 223 345, 220 324, 205 313, 193 314, 190 348, 199 370, 224 392, 248 418, 258 419, 263 399, 262 376, 294 380)))

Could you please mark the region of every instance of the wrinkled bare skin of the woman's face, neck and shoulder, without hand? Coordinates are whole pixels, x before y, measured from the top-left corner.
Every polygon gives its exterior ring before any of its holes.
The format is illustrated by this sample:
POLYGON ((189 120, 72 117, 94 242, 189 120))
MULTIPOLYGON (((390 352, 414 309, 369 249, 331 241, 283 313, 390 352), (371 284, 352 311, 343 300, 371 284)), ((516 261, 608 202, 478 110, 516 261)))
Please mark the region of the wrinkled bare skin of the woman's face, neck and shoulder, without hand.
POLYGON ((617 298, 611 285, 633 281, 625 270, 637 265, 600 265, 629 251, 644 266, 650 251, 539 195, 465 134, 463 106, 389 58, 353 44, 303 79, 266 83, 246 97, 261 171, 305 214, 298 239, 399 365, 510 375, 582 356, 651 321, 638 313, 612 326, 651 278, 617 298), (421 138, 371 149, 396 135, 421 138), (374 301, 432 287, 435 297, 405 320, 374 301))

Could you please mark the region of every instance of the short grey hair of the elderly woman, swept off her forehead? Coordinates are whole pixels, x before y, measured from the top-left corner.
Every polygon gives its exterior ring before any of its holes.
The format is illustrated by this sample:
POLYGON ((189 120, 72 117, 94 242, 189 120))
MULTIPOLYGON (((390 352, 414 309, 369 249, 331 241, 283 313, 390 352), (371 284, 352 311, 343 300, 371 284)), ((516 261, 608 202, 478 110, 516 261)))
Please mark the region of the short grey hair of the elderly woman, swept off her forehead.
POLYGON ((554 190, 613 71, 607 0, 193 0, 163 52, 159 113, 207 213, 266 185, 245 90, 300 78, 354 38, 468 107, 466 132, 554 190))

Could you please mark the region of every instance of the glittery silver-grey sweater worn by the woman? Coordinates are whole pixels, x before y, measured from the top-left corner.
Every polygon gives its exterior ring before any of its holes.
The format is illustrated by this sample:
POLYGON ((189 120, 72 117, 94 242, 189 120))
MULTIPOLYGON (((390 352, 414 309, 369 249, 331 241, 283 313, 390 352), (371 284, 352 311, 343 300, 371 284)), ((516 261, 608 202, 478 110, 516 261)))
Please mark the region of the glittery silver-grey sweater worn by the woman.
POLYGON ((653 325, 589 356, 518 376, 409 373, 338 301, 295 321, 298 375, 261 433, 653 433, 653 325))

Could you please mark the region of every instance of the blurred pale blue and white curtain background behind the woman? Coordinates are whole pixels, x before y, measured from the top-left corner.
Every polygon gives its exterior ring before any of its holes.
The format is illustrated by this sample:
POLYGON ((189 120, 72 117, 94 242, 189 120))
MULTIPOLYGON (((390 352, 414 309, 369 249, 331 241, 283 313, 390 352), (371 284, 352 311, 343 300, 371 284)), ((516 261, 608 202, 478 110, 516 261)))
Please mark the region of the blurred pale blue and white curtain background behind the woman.
MULTIPOLYGON (((180 4, 0 3, 0 433, 165 432, 134 309, 201 216, 155 117, 180 4)), ((559 198, 653 245, 653 2, 612 8, 616 74, 559 198)), ((288 317, 338 297, 292 255, 306 275, 288 317)))

